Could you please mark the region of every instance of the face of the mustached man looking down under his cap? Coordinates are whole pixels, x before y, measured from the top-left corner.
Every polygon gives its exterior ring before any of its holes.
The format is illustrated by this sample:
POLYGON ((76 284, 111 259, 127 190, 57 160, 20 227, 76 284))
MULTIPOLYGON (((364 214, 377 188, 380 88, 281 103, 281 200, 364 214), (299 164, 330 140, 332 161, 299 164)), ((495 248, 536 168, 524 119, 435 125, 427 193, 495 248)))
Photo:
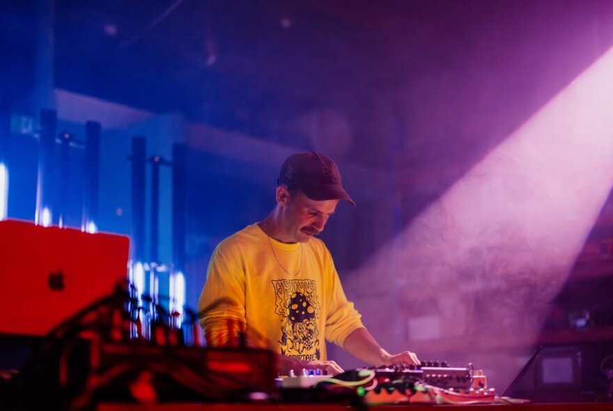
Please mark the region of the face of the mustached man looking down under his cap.
POLYGON ((282 228, 291 242, 307 242, 323 231, 334 214, 339 200, 311 200, 300 192, 288 192, 280 187, 281 197, 287 195, 282 209, 282 228))

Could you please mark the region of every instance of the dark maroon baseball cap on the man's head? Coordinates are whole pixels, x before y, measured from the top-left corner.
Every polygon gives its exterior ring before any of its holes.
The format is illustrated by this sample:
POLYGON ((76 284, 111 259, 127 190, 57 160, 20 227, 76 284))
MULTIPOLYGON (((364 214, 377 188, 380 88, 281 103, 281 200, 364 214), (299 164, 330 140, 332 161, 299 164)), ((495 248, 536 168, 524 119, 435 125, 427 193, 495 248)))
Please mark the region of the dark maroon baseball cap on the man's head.
POLYGON ((345 200, 355 206, 341 181, 339 167, 327 155, 316 151, 295 153, 287 157, 281 166, 278 184, 288 188, 298 187, 309 199, 345 200))

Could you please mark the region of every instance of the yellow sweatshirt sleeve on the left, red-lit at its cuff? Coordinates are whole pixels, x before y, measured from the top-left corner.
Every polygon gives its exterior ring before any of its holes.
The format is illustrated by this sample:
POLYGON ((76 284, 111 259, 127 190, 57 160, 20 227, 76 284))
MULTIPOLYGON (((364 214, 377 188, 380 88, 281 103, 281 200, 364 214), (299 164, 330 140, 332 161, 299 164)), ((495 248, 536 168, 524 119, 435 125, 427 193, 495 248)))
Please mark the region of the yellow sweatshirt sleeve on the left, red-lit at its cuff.
POLYGON ((224 248, 223 242, 213 251, 198 302, 208 346, 235 343, 245 332, 245 272, 240 266, 238 255, 224 248))

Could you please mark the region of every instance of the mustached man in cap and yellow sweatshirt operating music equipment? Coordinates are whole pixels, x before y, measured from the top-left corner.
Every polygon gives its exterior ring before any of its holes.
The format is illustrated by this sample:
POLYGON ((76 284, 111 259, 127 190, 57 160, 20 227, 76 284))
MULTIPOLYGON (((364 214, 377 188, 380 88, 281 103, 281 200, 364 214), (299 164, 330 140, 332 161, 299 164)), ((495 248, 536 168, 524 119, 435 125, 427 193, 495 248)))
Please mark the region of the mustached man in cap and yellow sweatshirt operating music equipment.
POLYGON ((340 200, 355 202, 338 167, 310 151, 290 155, 277 181, 277 206, 262 222, 222 241, 210 260, 199 316, 210 346, 244 339, 278 352, 280 371, 343 370, 325 341, 379 366, 419 364, 413 352, 390 355, 362 325, 343 293, 321 233, 340 200))

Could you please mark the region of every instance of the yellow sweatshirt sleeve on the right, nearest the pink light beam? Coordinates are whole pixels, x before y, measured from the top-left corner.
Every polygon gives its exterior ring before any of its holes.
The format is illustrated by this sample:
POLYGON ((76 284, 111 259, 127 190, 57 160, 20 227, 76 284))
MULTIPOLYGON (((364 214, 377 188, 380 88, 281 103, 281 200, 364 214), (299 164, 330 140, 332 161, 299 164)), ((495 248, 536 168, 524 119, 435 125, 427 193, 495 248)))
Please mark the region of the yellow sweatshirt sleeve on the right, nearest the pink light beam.
POLYGON ((353 307, 353 303, 347 300, 339 274, 336 272, 332 256, 325 249, 327 254, 326 278, 327 278, 327 318, 325 325, 325 339, 343 347, 343 343, 349 334, 355 329, 364 327, 362 316, 353 307), (328 291, 329 290, 329 291, 328 291))

